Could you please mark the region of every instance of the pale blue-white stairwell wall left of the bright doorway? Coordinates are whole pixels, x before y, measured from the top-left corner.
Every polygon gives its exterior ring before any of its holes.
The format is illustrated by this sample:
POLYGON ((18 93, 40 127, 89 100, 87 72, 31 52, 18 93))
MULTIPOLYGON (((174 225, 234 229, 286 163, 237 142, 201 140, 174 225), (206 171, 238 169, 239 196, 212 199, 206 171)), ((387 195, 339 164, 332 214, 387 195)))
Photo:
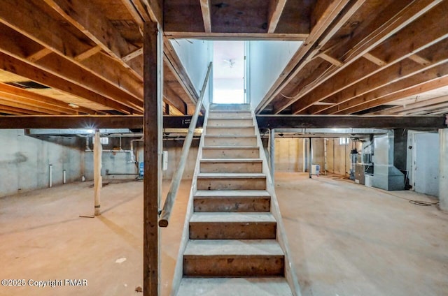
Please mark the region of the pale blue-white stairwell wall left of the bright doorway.
MULTIPOLYGON (((171 43, 176 50, 179 59, 190 77, 191 82, 196 88, 197 94, 200 94, 202 84, 204 83, 207 67, 213 57, 213 46, 211 41, 196 39, 175 39, 171 43)), ((209 87, 204 95, 204 106, 208 106, 211 98, 211 78, 209 87)))

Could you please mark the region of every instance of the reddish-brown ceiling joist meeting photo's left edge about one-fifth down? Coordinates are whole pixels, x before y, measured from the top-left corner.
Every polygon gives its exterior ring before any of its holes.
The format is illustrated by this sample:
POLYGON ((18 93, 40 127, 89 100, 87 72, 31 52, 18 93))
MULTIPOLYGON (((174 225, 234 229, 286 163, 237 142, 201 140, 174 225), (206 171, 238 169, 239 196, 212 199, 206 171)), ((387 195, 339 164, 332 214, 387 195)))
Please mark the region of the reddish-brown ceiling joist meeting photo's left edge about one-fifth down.
POLYGON ((3 54, 1 52, 0 52, 0 68, 9 71, 11 73, 14 73, 16 75, 27 77, 30 80, 33 80, 43 85, 47 85, 48 87, 59 89, 69 94, 80 96, 81 98, 86 98, 87 100, 99 103, 101 105, 104 105, 114 110, 118 110, 120 112, 124 112, 125 114, 131 114, 134 112, 134 110, 121 103, 111 101, 109 98, 101 96, 95 93, 94 91, 90 91, 89 89, 80 87, 79 85, 64 80, 61 77, 58 77, 57 75, 53 75, 52 73, 42 71, 41 69, 35 68, 34 66, 26 64, 25 62, 15 59, 13 57, 7 56, 6 54, 3 54))

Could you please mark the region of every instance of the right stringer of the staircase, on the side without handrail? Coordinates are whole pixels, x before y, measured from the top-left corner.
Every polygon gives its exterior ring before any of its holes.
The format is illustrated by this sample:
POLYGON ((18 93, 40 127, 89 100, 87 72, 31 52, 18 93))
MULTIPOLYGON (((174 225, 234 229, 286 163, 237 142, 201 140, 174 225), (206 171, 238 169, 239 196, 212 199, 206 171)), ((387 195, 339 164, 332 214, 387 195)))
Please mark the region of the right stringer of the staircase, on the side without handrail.
POLYGON ((269 170, 265 149, 263 148, 260 130, 258 129, 258 123, 253 110, 251 110, 253 125, 255 126, 255 135, 257 137, 257 145, 260 149, 260 158, 262 159, 262 173, 266 175, 266 191, 271 195, 271 214, 276 219, 276 239, 279 242, 281 249, 285 256, 285 278, 294 296, 301 296, 300 285, 297 281, 297 274, 291 260, 291 251, 288 245, 288 237, 286 237, 286 230, 281 218, 279 201, 275 194, 274 184, 272 182, 272 176, 269 170))

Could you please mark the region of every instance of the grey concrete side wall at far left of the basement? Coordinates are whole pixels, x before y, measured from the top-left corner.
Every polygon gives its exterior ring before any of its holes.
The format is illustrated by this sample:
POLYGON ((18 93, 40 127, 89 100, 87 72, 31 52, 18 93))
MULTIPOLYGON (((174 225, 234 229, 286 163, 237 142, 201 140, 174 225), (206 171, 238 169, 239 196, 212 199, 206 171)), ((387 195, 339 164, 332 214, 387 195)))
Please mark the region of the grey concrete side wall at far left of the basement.
POLYGON ((78 137, 33 138, 25 131, 0 130, 0 197, 49 184, 52 165, 53 186, 80 180, 83 172, 83 141, 78 137))

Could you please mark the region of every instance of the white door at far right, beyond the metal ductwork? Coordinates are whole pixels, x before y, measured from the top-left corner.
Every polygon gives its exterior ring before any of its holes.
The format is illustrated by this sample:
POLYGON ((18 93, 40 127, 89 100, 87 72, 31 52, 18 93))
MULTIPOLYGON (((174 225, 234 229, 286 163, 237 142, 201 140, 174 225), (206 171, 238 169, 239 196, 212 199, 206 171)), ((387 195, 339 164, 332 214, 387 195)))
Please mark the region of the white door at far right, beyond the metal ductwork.
POLYGON ((414 190, 439 195, 439 134, 414 134, 414 190))

